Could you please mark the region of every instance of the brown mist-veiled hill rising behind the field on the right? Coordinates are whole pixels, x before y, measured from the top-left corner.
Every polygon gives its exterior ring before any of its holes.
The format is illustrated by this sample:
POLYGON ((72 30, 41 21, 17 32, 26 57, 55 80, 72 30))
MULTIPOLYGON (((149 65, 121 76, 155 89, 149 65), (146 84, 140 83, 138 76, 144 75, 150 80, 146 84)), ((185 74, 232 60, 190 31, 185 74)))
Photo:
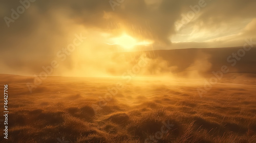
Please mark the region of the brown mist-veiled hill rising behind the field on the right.
MULTIPOLYGON (((223 65, 229 68, 229 73, 256 73, 256 46, 249 51, 243 47, 223 47, 211 49, 179 49, 145 51, 144 54, 151 59, 162 59, 169 66, 177 66, 174 70, 179 73, 187 70, 199 70, 202 73, 218 71, 223 65), (240 52, 240 54, 238 54, 240 52), (244 53, 245 54, 244 54, 244 53), (232 54, 237 54, 238 58, 232 54), (241 55, 243 55, 240 57, 241 55), (240 55, 240 56, 239 56, 240 55), (230 57, 231 56, 231 57, 230 57)), ((127 59, 137 58, 142 52, 122 53, 127 59)))

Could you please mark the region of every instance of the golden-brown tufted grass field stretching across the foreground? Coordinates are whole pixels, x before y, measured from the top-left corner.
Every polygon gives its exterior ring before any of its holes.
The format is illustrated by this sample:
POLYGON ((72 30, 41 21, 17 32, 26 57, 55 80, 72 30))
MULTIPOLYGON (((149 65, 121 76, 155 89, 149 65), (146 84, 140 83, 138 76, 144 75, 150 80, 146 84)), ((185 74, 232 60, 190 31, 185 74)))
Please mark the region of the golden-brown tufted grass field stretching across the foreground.
POLYGON ((256 142, 255 74, 226 74, 202 98, 203 82, 192 79, 48 77, 32 93, 27 82, 1 75, 8 142, 256 142))

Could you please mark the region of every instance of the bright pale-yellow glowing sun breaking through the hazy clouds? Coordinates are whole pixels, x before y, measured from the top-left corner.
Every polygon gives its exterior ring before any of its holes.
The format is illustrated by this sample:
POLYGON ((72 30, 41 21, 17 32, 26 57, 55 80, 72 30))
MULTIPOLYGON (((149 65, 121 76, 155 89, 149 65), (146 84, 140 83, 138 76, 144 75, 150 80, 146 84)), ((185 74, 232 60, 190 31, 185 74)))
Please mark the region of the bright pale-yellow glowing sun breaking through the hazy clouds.
POLYGON ((136 45, 148 45, 151 42, 148 41, 138 41, 137 39, 129 36, 127 34, 122 34, 120 37, 115 37, 111 39, 112 43, 107 43, 110 45, 120 45, 124 49, 132 49, 136 45))

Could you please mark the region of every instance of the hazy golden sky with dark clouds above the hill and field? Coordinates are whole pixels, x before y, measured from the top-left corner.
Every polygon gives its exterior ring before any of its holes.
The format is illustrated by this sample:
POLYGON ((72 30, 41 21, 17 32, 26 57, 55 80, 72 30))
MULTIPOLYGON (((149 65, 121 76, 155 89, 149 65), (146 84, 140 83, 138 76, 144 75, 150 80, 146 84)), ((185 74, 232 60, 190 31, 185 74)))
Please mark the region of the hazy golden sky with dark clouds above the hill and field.
POLYGON ((56 75, 81 64, 100 69, 108 53, 241 46, 256 32, 254 0, 21 2, 25 8, 19 1, 0 2, 1 73, 36 74, 54 59, 63 64, 56 75), (75 34, 87 38, 61 56, 75 34))

